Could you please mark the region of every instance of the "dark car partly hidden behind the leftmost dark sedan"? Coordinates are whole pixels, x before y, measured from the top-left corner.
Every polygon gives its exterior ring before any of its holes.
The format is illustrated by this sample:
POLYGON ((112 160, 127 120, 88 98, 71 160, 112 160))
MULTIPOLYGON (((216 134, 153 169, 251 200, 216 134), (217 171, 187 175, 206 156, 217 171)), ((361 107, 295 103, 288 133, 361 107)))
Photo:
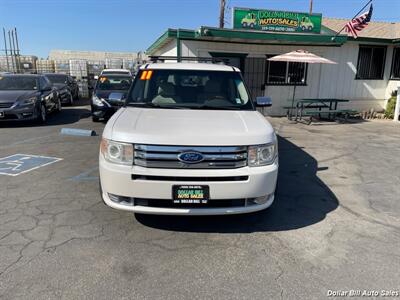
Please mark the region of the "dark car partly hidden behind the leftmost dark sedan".
POLYGON ((45 75, 57 89, 62 104, 72 105, 79 99, 79 87, 75 79, 65 74, 47 73, 45 75))

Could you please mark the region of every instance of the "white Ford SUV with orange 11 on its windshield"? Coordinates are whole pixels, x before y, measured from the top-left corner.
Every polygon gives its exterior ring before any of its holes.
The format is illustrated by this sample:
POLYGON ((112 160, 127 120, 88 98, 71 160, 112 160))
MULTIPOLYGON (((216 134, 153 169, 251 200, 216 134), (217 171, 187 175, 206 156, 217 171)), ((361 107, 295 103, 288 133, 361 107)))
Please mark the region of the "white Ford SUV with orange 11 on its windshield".
POLYGON ((100 145, 104 202, 143 214, 249 213, 274 201, 277 138, 235 67, 140 68, 100 145))

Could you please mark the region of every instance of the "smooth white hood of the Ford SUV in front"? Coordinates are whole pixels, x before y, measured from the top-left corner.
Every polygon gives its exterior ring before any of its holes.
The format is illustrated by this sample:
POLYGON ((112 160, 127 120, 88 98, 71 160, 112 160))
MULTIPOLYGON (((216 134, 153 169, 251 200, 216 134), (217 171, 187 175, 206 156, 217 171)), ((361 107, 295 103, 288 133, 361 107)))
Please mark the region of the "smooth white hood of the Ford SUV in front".
POLYGON ((275 133, 257 111, 125 107, 107 124, 104 137, 141 144, 247 146, 272 142, 275 133))

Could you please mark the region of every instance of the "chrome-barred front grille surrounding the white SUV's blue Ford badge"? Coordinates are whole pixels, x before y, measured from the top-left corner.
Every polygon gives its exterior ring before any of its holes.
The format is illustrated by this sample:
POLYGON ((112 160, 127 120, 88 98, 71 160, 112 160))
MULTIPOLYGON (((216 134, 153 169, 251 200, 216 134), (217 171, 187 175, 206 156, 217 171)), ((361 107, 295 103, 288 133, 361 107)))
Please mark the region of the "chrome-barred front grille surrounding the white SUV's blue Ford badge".
POLYGON ((245 146, 156 146, 135 145, 135 165, 166 169, 235 169, 247 166, 245 146), (184 152, 199 152, 203 160, 185 163, 178 159, 184 152))

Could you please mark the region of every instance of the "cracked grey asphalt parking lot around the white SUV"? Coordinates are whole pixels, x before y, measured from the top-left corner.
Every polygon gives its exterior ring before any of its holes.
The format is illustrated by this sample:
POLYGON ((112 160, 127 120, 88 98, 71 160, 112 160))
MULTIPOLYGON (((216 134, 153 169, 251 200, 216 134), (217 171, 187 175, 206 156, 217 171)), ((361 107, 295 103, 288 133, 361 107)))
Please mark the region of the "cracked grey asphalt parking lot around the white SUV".
POLYGON ((84 104, 64 108, 46 126, 0 124, 0 158, 58 159, 0 175, 0 298, 321 299, 329 290, 399 291, 399 126, 270 121, 280 137, 275 203, 223 217, 106 207, 97 168, 104 124, 93 123, 84 104), (63 127, 98 136, 60 135, 63 127))

